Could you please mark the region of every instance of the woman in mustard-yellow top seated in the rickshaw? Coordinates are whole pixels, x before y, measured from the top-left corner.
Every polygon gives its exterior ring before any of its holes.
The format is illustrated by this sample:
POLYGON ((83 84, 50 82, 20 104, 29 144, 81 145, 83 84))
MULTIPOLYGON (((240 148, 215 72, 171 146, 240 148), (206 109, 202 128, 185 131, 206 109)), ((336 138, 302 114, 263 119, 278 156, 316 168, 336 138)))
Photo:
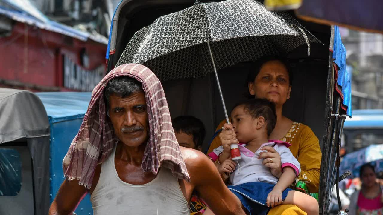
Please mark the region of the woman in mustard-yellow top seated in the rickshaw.
MULTIPOLYGON (((291 153, 301 164, 301 173, 297 181, 304 181, 308 191, 317 193, 319 189, 319 173, 321 167, 321 149, 319 140, 307 125, 293 122, 282 115, 283 104, 290 98, 292 72, 288 64, 279 58, 267 57, 251 64, 247 86, 249 96, 252 98, 266 98, 276 104, 277 124, 270 134, 270 140, 282 140, 291 144, 291 153)), ((226 121, 218 126, 219 131, 226 121)), ((208 153, 221 146, 221 142, 231 141, 228 137, 230 131, 221 131, 210 145, 208 153)), ((264 165, 268 166, 271 173, 279 178, 282 174, 281 158, 272 147, 265 147, 266 153, 260 154, 264 158, 264 165)), ((269 214, 303 214, 295 205, 279 205, 272 208, 269 214)))

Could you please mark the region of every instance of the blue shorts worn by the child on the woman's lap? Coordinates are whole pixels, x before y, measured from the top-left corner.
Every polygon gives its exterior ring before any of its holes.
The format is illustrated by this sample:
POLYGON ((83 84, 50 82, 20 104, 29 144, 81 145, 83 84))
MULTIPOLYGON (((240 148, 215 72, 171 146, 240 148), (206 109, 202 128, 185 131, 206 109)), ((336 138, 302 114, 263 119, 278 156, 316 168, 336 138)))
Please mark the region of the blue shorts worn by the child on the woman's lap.
MULTIPOLYGON (((271 209, 266 204, 267 195, 273 190, 274 186, 275 184, 266 182, 248 182, 237 186, 231 185, 229 190, 241 200, 242 205, 250 215, 266 215, 271 209)), ((288 191, 291 191, 291 189, 287 188, 282 192, 282 200, 286 199, 288 191)))

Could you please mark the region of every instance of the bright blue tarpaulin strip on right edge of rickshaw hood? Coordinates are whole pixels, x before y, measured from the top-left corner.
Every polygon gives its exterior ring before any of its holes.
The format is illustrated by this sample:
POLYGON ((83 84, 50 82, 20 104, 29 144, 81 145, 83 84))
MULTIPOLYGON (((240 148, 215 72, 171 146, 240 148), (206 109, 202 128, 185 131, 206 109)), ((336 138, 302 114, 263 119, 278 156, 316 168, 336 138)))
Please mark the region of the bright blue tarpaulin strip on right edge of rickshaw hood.
POLYGON ((339 67, 337 84, 341 87, 343 104, 347 107, 347 116, 351 116, 351 73, 346 66, 346 49, 340 39, 339 27, 334 26, 334 50, 332 57, 339 67))

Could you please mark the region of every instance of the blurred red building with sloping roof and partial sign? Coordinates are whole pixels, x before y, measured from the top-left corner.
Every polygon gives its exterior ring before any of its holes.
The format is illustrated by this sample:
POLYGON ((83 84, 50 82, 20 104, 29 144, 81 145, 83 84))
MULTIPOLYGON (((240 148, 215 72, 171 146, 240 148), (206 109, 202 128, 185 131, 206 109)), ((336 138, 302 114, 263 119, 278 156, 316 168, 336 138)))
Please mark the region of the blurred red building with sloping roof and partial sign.
POLYGON ((8 6, 0 8, 0 87, 92 91, 105 75, 107 37, 8 6))

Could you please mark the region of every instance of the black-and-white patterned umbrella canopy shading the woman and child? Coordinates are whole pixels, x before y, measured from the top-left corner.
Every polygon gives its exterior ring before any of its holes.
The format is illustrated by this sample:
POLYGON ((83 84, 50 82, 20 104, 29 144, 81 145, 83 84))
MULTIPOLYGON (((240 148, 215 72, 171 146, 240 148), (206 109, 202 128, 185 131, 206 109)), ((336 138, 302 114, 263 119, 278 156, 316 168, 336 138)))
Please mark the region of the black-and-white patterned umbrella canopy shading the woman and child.
POLYGON ((216 69, 265 55, 286 55, 310 42, 320 43, 285 12, 265 9, 254 0, 199 3, 161 16, 139 30, 116 66, 139 63, 160 80, 200 78, 216 69))

